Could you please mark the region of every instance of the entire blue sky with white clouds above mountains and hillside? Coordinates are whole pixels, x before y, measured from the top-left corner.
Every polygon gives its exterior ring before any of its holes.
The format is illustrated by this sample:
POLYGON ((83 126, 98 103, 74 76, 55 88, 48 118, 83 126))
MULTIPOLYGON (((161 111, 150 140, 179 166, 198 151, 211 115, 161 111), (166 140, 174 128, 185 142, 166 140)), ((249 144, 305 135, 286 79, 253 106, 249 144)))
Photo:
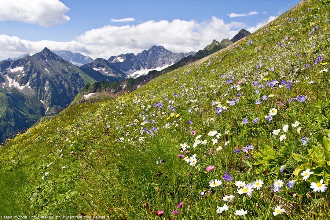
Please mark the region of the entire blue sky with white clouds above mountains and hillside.
POLYGON ((0 36, 6 37, 12 47, 8 47, 6 50, 0 49, 3 50, 0 51, 3 54, 0 55, 0 58, 14 56, 19 52, 34 53, 41 46, 47 46, 50 49, 76 50, 73 52, 85 53, 92 58, 102 56, 106 58, 130 51, 136 53, 142 49, 148 49, 145 47, 153 44, 167 46, 174 52, 197 51, 206 46, 210 39, 211 41, 212 39, 221 41, 223 38, 231 38, 235 31, 237 33, 241 28, 251 31, 252 27, 260 27, 267 20, 274 19, 278 13, 287 11, 290 3, 295 4, 290 0, 48 0, 48 3, 49 5, 45 5, 41 0, 33 0, 32 6, 25 2, 24 9, 11 1, 4 3, 8 4, 8 6, 4 6, 7 15, 1 15, 4 12, 0 12, 0 36), (12 15, 17 11, 24 18, 19 16, 13 18, 12 15), (230 17, 228 16, 230 13, 245 16, 230 17), (248 15, 249 13, 251 15, 248 15), (47 18, 48 16, 49 18, 47 18), (111 19, 122 18, 134 18, 135 20, 111 22, 111 19), (178 19, 178 22, 173 23, 172 21, 175 19, 178 19), (148 22, 151 20, 154 22, 148 22), (161 20, 168 22, 164 24, 160 22, 161 20), (186 28, 184 21, 189 22, 189 28, 186 28), (116 28, 125 25, 129 27, 116 28), (155 33, 153 30, 157 32, 154 39, 151 37, 155 33), (187 33, 186 38, 184 31, 187 33), (159 32, 163 32, 164 38, 160 37, 159 32), (209 33, 209 35, 205 36, 201 32, 209 33), (149 37, 147 38, 146 35, 149 37), (168 41, 166 35, 169 35, 168 41), (177 35, 176 38, 173 38, 173 35, 177 35), (14 36, 18 39, 13 39, 14 36), (123 40, 123 38, 125 39, 123 40), (186 42, 183 42, 185 40, 186 42), (19 45, 16 47, 14 41, 19 41, 20 44, 24 44, 24 47, 19 45), (58 42, 62 42, 62 44, 58 42), (95 46, 95 48, 91 48, 91 46, 95 46), (109 52, 104 52, 103 50, 107 50, 107 48, 109 52))

